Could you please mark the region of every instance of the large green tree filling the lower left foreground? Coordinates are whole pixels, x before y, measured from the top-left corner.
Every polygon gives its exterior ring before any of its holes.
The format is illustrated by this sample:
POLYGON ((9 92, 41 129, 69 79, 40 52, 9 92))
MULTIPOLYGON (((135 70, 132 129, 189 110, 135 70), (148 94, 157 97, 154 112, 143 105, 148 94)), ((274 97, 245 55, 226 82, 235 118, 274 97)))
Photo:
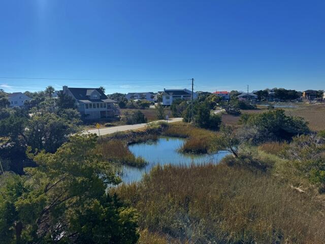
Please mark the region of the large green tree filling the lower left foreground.
POLYGON ((136 211, 107 194, 120 179, 95 154, 96 141, 94 134, 72 136, 54 154, 28 153, 39 167, 27 168, 26 176, 6 175, 0 242, 137 242, 136 211))

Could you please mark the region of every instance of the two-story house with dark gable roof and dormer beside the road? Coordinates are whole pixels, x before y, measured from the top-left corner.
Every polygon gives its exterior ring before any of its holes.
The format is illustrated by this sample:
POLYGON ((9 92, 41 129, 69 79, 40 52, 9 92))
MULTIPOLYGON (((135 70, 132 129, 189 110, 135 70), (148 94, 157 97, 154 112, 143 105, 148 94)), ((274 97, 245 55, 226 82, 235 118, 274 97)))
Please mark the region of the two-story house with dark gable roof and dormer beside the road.
POLYGON ((63 93, 75 99, 78 111, 86 119, 113 117, 119 114, 114 100, 107 98, 100 88, 72 88, 63 86, 63 93))

